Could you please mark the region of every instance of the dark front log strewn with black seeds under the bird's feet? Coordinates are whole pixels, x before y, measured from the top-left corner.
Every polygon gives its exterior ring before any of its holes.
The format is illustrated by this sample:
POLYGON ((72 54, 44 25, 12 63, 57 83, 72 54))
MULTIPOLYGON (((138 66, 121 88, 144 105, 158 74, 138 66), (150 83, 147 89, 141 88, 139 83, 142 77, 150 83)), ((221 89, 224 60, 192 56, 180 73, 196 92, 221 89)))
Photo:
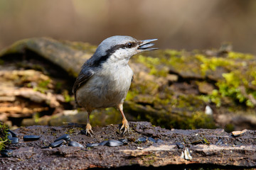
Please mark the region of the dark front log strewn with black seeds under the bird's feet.
POLYGON ((1 157, 0 166, 3 169, 256 167, 255 130, 243 130, 234 137, 223 129, 166 130, 148 122, 131 122, 128 135, 120 135, 118 125, 107 125, 93 128, 95 135, 87 137, 81 134, 84 127, 70 123, 60 127, 18 128, 14 132, 20 142, 7 145, 14 151, 12 157, 1 157), (64 134, 69 134, 71 140, 83 148, 69 147, 65 142, 62 147, 42 148, 64 134), (24 135, 41 138, 24 142, 24 135), (115 147, 100 146, 100 142, 106 140, 124 143, 115 147), (92 143, 98 146, 88 147, 92 143))

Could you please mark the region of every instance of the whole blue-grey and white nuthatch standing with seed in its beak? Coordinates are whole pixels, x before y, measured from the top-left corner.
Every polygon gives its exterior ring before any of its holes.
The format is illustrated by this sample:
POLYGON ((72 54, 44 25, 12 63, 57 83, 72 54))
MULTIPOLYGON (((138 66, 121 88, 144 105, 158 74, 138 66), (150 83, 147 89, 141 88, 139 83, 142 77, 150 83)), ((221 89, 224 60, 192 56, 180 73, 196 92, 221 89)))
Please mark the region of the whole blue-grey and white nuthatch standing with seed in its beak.
POLYGON ((73 86, 75 101, 87 111, 86 135, 91 133, 90 113, 95 108, 117 107, 122 113, 120 132, 129 132, 129 123, 124 116, 123 103, 132 82, 133 72, 129 59, 151 48, 157 39, 136 40, 129 36, 116 35, 103 40, 96 52, 82 65, 73 86))

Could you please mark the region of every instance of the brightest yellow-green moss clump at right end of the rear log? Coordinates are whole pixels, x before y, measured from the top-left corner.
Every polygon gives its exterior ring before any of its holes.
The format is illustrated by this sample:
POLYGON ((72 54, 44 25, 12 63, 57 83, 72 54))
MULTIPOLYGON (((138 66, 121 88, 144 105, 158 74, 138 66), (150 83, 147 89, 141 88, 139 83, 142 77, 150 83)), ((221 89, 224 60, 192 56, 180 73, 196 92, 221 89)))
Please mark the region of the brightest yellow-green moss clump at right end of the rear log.
POLYGON ((204 99, 209 99, 218 107, 223 103, 223 97, 231 98, 234 102, 245 104, 248 107, 255 107, 248 98, 249 94, 255 97, 254 91, 250 89, 251 85, 255 86, 256 84, 255 64, 250 62, 254 58, 252 55, 229 52, 228 57, 206 57, 204 55, 196 55, 195 57, 202 63, 203 74, 209 70, 214 72, 218 67, 230 70, 222 74, 223 79, 218 79, 215 84, 218 89, 215 89, 211 95, 204 99))

